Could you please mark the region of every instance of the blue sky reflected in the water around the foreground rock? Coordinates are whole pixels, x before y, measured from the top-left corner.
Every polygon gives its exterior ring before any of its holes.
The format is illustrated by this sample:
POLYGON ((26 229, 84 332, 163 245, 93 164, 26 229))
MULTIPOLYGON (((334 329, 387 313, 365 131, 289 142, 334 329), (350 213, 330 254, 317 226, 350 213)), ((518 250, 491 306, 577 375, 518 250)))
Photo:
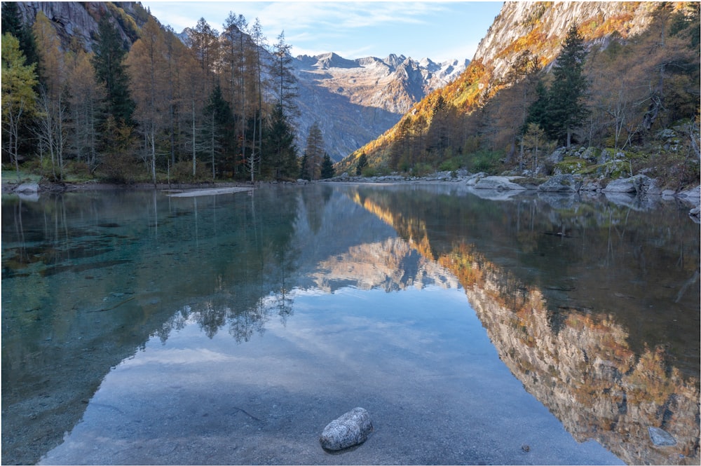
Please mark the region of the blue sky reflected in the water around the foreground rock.
POLYGON ((615 462, 577 444, 523 390, 462 289, 292 295, 294 313, 273 315, 246 343, 208 338, 194 322, 165 343, 151 338, 104 378, 44 461, 337 464, 318 434, 363 406, 376 432, 344 462, 615 462))

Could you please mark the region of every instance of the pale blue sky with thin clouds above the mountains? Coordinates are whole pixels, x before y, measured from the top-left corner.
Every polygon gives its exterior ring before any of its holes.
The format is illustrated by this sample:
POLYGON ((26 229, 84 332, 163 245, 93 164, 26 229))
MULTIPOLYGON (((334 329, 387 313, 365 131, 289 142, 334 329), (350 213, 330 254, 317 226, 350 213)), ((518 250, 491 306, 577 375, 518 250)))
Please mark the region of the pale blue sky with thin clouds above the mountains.
POLYGON ((354 59, 390 53, 435 62, 469 58, 503 2, 498 1, 142 1, 177 32, 200 18, 222 31, 229 11, 259 18, 268 43, 284 30, 292 55, 335 52, 354 59))

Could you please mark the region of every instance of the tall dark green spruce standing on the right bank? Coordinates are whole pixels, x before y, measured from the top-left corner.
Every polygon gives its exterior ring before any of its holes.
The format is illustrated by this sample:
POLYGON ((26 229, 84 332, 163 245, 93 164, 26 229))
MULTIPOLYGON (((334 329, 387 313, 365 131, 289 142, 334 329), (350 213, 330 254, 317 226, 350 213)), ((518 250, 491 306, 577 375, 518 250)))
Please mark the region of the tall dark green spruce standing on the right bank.
POLYGON ((584 76, 586 55, 582 36, 577 26, 572 25, 552 69, 554 79, 547 105, 552 135, 564 140, 568 147, 572 142, 572 132, 585 121, 589 112, 584 102, 587 91, 587 78, 584 76))

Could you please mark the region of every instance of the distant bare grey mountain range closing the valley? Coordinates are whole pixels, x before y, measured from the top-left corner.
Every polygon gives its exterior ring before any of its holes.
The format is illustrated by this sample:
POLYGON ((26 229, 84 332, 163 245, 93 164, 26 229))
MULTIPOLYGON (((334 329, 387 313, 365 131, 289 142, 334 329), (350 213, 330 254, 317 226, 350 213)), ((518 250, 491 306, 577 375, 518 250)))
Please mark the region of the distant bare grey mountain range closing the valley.
POLYGON ((412 105, 461 74, 469 60, 435 63, 391 54, 347 60, 336 53, 294 61, 298 79, 297 142, 319 124, 329 156, 338 161, 400 121, 412 105))

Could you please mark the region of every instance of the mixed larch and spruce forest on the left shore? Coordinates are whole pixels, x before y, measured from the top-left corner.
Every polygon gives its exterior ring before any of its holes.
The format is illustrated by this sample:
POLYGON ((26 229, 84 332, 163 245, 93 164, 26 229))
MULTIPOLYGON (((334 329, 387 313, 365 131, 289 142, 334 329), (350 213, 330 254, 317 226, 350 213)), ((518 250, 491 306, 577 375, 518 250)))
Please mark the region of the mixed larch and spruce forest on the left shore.
MULTIPOLYGON (((114 7, 114 10, 118 8, 114 7)), ((332 177, 318 125, 294 140, 296 80, 284 32, 204 18, 179 38, 137 4, 100 19, 91 52, 69 50, 41 11, 2 3, 2 163, 52 182, 201 182, 332 177), (113 16, 114 18, 114 16, 113 16)))

